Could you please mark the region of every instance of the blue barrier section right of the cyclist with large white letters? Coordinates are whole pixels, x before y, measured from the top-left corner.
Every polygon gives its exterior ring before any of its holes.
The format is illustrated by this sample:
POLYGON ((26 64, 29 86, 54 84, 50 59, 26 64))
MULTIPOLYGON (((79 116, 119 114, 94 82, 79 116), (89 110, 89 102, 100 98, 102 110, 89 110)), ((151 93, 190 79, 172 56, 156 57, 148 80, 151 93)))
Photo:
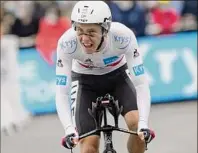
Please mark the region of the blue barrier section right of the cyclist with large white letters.
POLYGON ((197 99, 197 32, 138 40, 152 102, 197 99))

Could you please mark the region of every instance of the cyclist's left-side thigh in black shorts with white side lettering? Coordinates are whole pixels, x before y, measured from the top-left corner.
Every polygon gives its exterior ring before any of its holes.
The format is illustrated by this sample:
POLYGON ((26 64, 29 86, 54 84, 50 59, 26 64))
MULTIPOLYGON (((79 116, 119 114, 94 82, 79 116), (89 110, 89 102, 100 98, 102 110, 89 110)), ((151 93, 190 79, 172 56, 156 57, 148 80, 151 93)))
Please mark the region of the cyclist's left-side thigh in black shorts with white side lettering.
POLYGON ((91 86, 91 80, 84 80, 83 77, 72 78, 72 115, 79 135, 95 129, 95 122, 88 113, 88 108, 92 107, 92 102, 97 98, 91 86))

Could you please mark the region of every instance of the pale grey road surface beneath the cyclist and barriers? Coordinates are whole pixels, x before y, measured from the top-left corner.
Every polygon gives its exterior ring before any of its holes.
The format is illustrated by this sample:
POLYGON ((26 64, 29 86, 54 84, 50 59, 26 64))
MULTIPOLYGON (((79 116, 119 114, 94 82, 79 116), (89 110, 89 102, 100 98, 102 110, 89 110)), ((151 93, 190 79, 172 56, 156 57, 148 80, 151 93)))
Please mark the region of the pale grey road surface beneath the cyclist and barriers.
MULTIPOLYGON (((126 127, 120 119, 120 127, 126 127)), ((150 125, 156 138, 146 153, 197 153, 197 101, 152 105, 150 125)), ((63 133, 56 114, 37 116, 24 131, 1 136, 1 153, 70 153, 60 145, 63 133)), ((113 133, 118 153, 127 153, 127 137, 127 134, 113 133)), ((101 139, 100 150, 102 147, 101 139)), ((79 153, 79 148, 73 152, 79 153)))

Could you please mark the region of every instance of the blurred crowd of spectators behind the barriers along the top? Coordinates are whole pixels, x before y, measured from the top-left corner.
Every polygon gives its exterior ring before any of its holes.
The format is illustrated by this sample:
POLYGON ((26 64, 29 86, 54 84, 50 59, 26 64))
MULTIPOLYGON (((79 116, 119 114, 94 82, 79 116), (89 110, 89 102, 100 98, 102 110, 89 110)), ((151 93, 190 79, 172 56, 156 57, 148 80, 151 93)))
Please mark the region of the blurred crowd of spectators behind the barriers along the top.
MULTIPOLYGON (((76 2, 2 1, 1 35, 18 36, 20 48, 55 50, 58 38, 71 27, 76 2)), ((113 21, 125 24, 137 37, 197 30, 197 1, 105 2, 113 21)))

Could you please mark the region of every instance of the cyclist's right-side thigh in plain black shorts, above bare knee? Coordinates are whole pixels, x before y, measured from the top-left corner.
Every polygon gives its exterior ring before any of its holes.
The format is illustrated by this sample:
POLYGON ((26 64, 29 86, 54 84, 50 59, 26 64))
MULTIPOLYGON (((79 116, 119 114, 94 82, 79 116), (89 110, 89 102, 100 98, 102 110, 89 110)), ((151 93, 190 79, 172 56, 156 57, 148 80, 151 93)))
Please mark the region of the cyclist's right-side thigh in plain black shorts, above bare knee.
POLYGON ((121 72, 117 82, 114 95, 119 104, 123 106, 122 115, 124 116, 130 111, 137 110, 136 90, 125 71, 121 72))

